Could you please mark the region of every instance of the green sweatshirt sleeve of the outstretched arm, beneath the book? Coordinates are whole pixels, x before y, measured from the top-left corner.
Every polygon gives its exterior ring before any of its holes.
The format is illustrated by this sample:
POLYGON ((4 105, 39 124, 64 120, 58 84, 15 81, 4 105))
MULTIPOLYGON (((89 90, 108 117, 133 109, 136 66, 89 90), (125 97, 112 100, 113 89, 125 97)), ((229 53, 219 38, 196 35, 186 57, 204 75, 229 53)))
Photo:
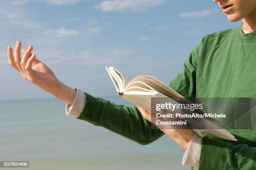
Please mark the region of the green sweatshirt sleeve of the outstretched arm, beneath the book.
POLYGON ((86 104, 84 103, 78 119, 102 126, 141 145, 149 144, 164 135, 159 129, 151 129, 151 122, 143 118, 137 107, 116 105, 108 100, 84 94, 86 104))

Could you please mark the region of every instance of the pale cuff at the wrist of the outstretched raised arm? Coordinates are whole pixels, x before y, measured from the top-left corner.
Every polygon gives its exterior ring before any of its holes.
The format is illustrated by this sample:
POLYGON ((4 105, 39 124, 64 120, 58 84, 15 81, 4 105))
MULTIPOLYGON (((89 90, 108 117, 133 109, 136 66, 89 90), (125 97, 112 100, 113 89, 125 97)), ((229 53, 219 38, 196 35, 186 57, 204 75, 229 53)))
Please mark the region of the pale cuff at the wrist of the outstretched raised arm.
POLYGON ((66 105, 66 114, 74 117, 79 117, 85 107, 86 97, 84 92, 76 88, 77 94, 74 98, 73 105, 66 105))

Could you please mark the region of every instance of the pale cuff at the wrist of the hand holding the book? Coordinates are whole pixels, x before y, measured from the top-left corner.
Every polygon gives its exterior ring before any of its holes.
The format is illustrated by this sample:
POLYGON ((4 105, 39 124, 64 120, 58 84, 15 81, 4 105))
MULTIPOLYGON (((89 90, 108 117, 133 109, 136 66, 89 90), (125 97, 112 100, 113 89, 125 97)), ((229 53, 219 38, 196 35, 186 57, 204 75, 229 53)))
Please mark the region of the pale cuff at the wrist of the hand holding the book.
POLYGON ((198 169, 201 149, 202 149, 202 137, 197 135, 197 133, 195 133, 183 156, 182 165, 195 167, 198 169))

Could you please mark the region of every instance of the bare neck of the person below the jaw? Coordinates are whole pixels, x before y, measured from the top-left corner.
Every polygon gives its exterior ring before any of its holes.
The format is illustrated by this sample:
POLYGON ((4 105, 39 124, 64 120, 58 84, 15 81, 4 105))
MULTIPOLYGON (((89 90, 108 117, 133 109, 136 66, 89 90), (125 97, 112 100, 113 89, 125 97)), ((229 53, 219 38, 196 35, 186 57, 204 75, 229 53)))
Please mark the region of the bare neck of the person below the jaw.
POLYGON ((243 18, 243 28, 248 31, 256 31, 256 9, 243 18))

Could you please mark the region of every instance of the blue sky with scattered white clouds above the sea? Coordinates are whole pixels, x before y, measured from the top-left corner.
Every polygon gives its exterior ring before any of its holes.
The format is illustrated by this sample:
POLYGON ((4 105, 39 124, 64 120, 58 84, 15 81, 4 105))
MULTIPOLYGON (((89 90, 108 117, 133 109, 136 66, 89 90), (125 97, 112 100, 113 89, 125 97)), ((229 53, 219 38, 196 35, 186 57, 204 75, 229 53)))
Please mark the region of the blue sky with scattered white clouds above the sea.
POLYGON ((104 96, 116 93, 106 65, 168 84, 204 35, 240 24, 212 0, 1 0, 0 100, 51 97, 8 65, 17 40, 65 84, 104 96))

